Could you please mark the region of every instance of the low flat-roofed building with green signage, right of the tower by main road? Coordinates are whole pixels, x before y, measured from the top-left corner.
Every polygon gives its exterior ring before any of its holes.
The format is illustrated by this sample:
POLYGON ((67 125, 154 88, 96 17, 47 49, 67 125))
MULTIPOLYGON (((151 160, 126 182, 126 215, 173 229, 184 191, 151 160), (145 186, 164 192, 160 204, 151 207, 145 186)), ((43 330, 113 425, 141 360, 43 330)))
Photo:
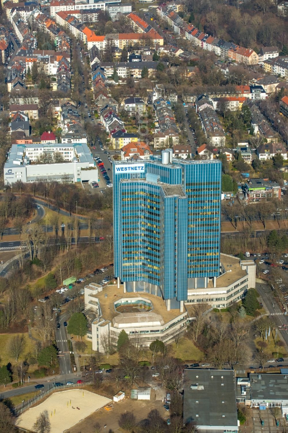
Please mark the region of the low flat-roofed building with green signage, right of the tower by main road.
POLYGON ((272 198, 281 199, 281 187, 277 182, 250 179, 242 189, 248 203, 258 203, 272 198))

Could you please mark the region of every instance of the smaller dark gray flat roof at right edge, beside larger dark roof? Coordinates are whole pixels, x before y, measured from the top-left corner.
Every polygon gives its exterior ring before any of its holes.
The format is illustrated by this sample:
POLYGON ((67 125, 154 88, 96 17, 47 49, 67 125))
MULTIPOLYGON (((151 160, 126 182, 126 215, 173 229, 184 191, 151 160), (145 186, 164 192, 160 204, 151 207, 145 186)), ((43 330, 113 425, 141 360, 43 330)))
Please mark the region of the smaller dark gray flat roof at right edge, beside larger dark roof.
POLYGON ((251 400, 288 400, 288 375, 250 374, 251 400))

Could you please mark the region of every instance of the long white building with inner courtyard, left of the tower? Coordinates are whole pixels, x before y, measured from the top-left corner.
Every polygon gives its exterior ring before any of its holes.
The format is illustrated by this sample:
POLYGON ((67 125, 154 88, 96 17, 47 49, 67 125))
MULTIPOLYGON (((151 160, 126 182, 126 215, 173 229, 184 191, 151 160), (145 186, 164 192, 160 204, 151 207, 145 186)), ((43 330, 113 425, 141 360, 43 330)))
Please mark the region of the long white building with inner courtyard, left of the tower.
POLYGON ((4 164, 6 185, 91 180, 98 181, 98 169, 85 143, 13 144, 4 164))

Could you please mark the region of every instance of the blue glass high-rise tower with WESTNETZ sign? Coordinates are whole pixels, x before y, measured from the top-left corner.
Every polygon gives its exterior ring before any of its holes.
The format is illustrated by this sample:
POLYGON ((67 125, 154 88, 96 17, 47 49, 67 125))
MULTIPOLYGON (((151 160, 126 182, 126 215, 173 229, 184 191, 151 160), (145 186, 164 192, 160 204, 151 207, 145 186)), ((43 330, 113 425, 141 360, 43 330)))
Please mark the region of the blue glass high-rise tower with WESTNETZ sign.
POLYGON ((162 153, 113 164, 114 271, 125 291, 182 309, 188 288, 219 275, 221 162, 162 153))

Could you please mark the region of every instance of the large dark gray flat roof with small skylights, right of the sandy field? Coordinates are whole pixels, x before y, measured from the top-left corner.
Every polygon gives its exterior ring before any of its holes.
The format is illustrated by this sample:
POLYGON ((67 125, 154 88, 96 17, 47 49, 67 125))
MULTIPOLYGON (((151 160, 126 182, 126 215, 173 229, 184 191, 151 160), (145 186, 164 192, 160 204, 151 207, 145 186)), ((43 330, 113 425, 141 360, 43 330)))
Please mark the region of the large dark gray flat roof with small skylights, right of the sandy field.
POLYGON ((184 370, 183 422, 195 422, 207 430, 212 426, 237 427, 234 371, 184 370))

